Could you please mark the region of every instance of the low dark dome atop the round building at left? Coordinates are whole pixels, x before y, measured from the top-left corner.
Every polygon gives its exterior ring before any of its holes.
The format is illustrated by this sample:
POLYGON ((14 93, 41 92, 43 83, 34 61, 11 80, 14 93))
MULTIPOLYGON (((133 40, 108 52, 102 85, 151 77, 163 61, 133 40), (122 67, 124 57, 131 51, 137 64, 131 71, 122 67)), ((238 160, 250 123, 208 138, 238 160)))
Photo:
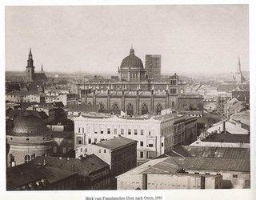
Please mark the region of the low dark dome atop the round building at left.
POLYGON ((33 115, 15 118, 13 124, 14 128, 10 131, 12 136, 40 137, 50 135, 46 123, 33 115))

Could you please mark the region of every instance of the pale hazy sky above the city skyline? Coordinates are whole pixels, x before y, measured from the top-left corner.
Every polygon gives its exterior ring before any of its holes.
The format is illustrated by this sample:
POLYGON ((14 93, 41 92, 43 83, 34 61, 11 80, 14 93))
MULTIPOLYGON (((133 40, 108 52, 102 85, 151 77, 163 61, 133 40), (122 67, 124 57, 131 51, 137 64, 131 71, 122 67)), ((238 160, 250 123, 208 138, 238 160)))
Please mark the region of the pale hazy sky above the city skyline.
POLYGON ((7 6, 6 70, 117 73, 134 46, 162 73, 249 70, 248 6, 7 6))

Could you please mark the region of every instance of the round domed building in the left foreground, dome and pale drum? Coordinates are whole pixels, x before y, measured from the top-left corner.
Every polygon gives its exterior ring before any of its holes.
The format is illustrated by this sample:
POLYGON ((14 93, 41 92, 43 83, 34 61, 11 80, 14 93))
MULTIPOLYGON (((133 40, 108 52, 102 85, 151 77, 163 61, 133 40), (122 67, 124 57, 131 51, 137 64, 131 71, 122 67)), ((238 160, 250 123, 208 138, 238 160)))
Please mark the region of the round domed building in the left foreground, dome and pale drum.
POLYGON ((20 165, 36 156, 48 154, 53 141, 46 123, 33 115, 15 118, 6 139, 10 145, 8 166, 20 165))

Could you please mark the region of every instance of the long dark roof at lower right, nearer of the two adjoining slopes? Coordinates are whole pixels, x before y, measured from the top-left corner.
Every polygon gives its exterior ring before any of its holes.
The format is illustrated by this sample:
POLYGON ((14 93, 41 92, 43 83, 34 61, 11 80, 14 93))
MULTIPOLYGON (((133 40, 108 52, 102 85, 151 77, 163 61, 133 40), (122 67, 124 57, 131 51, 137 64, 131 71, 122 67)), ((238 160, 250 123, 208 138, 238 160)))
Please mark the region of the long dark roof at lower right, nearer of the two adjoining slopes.
POLYGON ((170 157, 186 170, 241 171, 250 172, 250 159, 181 158, 170 157))

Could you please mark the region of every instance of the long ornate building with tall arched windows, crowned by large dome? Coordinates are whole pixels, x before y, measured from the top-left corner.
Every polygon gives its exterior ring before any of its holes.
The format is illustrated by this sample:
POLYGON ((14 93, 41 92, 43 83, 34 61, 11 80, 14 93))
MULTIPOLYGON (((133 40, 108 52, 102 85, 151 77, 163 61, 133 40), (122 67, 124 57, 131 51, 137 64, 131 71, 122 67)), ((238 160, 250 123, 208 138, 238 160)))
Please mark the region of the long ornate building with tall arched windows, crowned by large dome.
POLYGON ((142 60, 134 49, 118 68, 120 79, 69 82, 70 92, 78 94, 85 104, 99 105, 101 110, 122 110, 129 115, 158 114, 166 108, 177 108, 178 75, 150 80, 142 60))

